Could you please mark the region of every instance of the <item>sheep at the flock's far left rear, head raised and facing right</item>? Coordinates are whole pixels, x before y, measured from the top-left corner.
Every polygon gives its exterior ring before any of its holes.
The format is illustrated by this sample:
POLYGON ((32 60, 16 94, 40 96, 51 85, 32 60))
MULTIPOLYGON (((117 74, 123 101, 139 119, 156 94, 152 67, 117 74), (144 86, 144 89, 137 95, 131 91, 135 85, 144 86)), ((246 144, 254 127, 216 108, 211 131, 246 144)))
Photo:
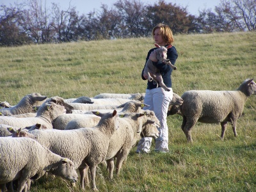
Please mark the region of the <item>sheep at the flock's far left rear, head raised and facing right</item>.
POLYGON ((40 93, 31 93, 24 96, 20 102, 11 107, 0 109, 2 115, 19 115, 21 113, 35 113, 33 106, 40 106, 47 97, 40 93))

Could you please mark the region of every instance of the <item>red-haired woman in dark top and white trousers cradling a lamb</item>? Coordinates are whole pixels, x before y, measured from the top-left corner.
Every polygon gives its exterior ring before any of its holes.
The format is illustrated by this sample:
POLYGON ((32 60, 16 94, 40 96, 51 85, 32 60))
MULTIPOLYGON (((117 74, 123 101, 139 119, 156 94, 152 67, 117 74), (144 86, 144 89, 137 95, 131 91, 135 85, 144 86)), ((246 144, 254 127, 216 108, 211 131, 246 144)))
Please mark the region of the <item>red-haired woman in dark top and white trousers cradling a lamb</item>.
MULTIPOLYGON (((169 28, 169 26, 164 24, 158 24, 156 27, 154 27, 154 29, 152 30, 152 35, 155 43, 160 46, 167 47, 168 45, 172 45, 174 41, 172 30, 169 28)), ((148 81, 144 103, 148 104, 149 107, 145 107, 143 109, 150 109, 154 111, 161 123, 161 127, 159 128, 160 134, 159 138, 156 139, 155 150, 157 152, 168 152, 168 125, 166 122, 166 117, 168 106, 173 96, 171 79, 172 68, 170 68, 169 65, 165 65, 164 63, 156 59, 156 52, 154 51, 155 49, 157 49, 157 47, 148 51, 146 63, 148 59, 153 61, 153 65, 160 70, 160 73, 163 76, 164 84, 166 84, 166 86, 170 89, 170 92, 166 92, 163 88, 159 86, 159 84, 157 85, 157 83, 155 83, 154 81, 148 81)), ((177 58, 178 54, 175 47, 170 47, 167 51, 167 59, 169 59, 174 65, 177 58)), ((141 73, 141 77, 143 80, 146 80, 147 77, 143 76, 143 71, 141 73)), ((151 143, 152 138, 142 138, 138 143, 136 152, 150 152, 151 143)))

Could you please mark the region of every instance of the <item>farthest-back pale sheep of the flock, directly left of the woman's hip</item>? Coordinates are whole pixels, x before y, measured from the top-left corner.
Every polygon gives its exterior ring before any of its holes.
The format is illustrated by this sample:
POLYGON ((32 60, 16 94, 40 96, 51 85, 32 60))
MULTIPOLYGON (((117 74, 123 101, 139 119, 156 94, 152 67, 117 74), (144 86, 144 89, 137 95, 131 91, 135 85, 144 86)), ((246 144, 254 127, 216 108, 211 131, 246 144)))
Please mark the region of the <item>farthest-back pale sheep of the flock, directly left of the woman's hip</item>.
POLYGON ((145 97, 145 93, 100 93, 99 95, 95 95, 93 99, 106 99, 106 98, 121 98, 121 99, 131 99, 131 100, 139 100, 143 101, 145 97))

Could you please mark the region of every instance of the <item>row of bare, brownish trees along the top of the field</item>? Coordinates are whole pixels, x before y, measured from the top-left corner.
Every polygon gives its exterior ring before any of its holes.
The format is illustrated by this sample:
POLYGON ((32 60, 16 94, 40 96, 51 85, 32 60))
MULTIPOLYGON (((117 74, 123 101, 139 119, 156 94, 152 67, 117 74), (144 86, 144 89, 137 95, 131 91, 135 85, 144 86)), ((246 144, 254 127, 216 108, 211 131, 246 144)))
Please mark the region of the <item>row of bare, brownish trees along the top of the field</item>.
POLYGON ((118 0, 111 8, 102 4, 86 15, 78 15, 72 6, 61 10, 56 3, 48 8, 42 0, 28 0, 0 5, 0 45, 138 38, 150 36, 158 23, 168 24, 174 34, 255 31, 256 1, 221 0, 214 11, 201 10, 198 15, 164 0, 118 0))

